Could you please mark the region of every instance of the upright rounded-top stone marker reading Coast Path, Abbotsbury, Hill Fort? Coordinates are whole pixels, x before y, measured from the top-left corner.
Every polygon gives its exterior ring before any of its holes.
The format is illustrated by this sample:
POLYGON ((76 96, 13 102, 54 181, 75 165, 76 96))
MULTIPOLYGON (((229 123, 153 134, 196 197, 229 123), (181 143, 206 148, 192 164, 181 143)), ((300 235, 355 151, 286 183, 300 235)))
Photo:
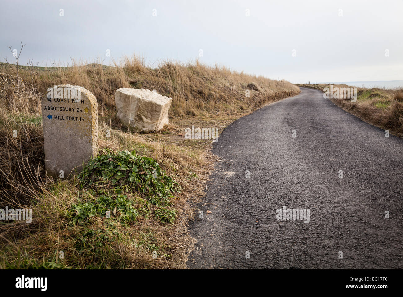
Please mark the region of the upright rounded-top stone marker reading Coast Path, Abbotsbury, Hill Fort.
POLYGON ((98 102, 81 86, 48 88, 42 99, 45 164, 48 176, 77 173, 98 153, 98 102))

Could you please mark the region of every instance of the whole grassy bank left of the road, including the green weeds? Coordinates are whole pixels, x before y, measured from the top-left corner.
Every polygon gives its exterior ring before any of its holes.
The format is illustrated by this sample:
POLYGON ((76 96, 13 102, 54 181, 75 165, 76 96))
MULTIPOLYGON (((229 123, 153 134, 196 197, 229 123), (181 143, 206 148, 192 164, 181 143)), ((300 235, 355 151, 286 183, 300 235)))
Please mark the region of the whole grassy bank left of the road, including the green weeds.
MULTIPOLYGON (((2 63, 0 72, 14 74, 13 67, 2 63)), ((187 221, 216 160, 211 140, 185 140, 184 128, 222 131, 299 93, 289 82, 225 67, 166 62, 150 68, 137 57, 110 67, 22 67, 19 76, 25 94, 0 105, 0 205, 30 208, 33 219, 0 221, 0 268, 184 268, 193 245, 187 221), (44 174, 39 100, 57 84, 87 88, 99 106, 99 157, 68 180, 44 174), (114 105, 121 87, 172 97, 170 124, 147 134, 121 126, 114 105)))

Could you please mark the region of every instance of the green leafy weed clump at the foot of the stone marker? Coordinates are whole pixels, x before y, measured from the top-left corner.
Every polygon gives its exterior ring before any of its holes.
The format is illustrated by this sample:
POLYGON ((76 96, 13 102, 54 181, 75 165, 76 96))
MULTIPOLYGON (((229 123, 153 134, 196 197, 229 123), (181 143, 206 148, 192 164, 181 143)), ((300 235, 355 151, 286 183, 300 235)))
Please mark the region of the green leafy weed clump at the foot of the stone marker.
POLYGON ((181 187, 161 170, 156 160, 137 156, 135 151, 104 153, 93 158, 78 176, 81 189, 100 195, 72 205, 74 223, 84 224, 91 217, 110 215, 127 225, 151 212, 162 223, 175 220, 177 213, 171 201, 181 187))

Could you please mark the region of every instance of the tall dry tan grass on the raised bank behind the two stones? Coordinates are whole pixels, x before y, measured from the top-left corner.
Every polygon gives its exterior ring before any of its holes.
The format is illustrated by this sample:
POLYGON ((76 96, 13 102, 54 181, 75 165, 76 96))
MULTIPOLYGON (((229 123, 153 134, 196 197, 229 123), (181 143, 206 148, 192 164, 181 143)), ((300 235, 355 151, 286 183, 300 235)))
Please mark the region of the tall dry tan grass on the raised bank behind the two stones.
MULTIPOLYGON (((2 64, 0 72, 13 74, 2 64)), ((270 80, 230 70, 224 66, 210 67, 198 61, 181 63, 164 61, 158 67, 147 67, 145 59, 133 55, 113 66, 96 63, 75 63, 71 67, 45 67, 31 78, 28 68, 20 70, 21 77, 33 82, 44 94, 58 84, 83 86, 98 99, 101 114, 115 112, 114 93, 118 88, 148 88, 172 97, 170 117, 214 116, 237 114, 241 110, 255 110, 268 101, 275 101, 299 93, 299 89, 285 80, 270 80), (248 84, 257 86, 245 96, 248 84), (256 91, 259 90, 259 91, 256 91)))

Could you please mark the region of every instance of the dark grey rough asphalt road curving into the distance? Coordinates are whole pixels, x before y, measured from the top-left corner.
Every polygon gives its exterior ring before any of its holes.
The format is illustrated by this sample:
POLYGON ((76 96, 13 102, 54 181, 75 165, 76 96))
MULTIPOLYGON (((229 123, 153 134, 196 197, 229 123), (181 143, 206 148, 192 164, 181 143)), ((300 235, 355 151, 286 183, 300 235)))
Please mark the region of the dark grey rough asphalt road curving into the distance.
POLYGON ((233 122, 213 153, 189 268, 403 268, 402 139, 301 88, 233 122), (284 206, 309 222, 277 219, 284 206))

